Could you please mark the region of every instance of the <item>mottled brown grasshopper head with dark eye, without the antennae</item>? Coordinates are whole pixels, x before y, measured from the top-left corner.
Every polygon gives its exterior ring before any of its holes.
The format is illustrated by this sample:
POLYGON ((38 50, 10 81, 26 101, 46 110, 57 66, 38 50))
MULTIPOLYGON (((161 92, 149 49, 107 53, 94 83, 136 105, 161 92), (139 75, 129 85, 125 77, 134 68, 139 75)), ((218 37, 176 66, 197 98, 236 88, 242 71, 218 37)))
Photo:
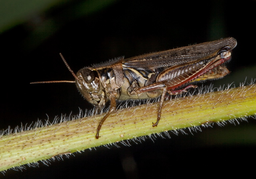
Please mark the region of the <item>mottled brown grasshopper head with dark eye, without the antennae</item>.
POLYGON ((106 95, 94 68, 82 68, 76 74, 76 86, 84 98, 98 108, 106 103, 106 95))

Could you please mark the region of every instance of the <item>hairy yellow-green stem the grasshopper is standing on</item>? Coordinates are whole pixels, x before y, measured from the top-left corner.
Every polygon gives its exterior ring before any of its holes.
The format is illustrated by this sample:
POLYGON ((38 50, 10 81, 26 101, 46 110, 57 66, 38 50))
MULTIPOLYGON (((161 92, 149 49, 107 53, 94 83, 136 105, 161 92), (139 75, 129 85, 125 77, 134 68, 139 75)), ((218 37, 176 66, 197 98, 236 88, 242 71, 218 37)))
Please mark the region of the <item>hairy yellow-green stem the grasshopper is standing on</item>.
POLYGON ((158 103, 128 107, 112 113, 95 139, 100 118, 94 115, 0 137, 0 171, 56 155, 73 153, 184 127, 220 122, 256 114, 256 85, 164 101, 156 122, 158 103))

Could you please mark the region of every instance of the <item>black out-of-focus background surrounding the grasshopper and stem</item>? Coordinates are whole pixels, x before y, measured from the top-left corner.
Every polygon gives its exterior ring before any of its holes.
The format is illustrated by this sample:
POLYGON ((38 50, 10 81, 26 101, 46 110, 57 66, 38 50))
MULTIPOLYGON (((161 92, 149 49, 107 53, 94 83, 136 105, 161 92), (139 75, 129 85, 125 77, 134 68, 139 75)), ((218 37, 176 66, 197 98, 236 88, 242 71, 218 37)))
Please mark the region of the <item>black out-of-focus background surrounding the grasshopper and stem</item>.
MULTIPOLYGON (((94 13, 79 16, 72 8, 81 0, 54 6, 34 14, 26 23, 0 34, 1 111, 0 129, 14 129, 37 119, 53 121, 56 115, 77 114, 92 106, 74 84, 30 82, 74 80, 62 62, 66 58, 74 72, 85 66, 125 56, 234 37, 238 41, 231 74, 214 81, 215 86, 250 82, 255 74, 256 1, 165 1, 120 0, 94 13), (72 15, 74 15, 72 17, 72 15), (48 29, 41 25, 53 19, 48 29), (51 30, 53 28, 53 30, 51 30), (39 29, 39 31, 38 31, 39 29), (36 31, 37 30, 37 31, 36 31), (46 115, 47 114, 47 115, 46 115)), ((89 7, 88 7, 89 8, 89 7)), ((87 9, 82 9, 86 11, 87 9)), ((237 124, 237 122, 236 122, 237 124)), ((170 133, 171 139, 157 137, 131 147, 96 147, 76 153, 64 161, 46 166, 8 170, 0 178, 55 177, 218 177, 221 173, 246 177, 255 161, 255 120, 240 125, 227 122, 193 135, 170 133)))

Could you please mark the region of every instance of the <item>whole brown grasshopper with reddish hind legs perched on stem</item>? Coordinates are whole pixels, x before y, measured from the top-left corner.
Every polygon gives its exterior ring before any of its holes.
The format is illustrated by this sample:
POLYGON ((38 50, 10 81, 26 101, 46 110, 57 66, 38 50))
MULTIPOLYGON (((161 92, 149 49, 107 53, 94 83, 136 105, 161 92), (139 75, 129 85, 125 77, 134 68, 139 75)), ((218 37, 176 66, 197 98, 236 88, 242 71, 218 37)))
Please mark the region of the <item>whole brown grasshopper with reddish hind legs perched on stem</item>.
POLYGON ((156 127, 166 93, 176 95, 186 92, 188 88, 196 88, 189 85, 191 82, 224 77, 229 71, 223 63, 230 59, 236 44, 234 38, 224 38, 127 59, 119 58, 104 65, 82 68, 77 74, 60 54, 75 81, 31 84, 76 83, 84 98, 97 108, 96 111, 110 100, 110 109, 97 127, 95 137, 98 139, 102 124, 116 110, 116 100, 150 99, 161 95, 157 120, 153 123, 153 127, 156 127))

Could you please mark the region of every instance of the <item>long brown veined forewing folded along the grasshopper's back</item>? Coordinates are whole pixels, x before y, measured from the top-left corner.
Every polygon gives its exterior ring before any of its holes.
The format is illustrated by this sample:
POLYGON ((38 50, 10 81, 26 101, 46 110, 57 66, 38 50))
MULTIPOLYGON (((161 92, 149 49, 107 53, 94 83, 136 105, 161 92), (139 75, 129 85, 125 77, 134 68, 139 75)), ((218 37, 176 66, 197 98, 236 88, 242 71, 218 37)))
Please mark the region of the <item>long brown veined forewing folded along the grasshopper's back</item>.
POLYGON ((218 51, 225 46, 233 49, 236 46, 236 40, 234 38, 224 38, 212 42, 135 56, 124 59, 123 67, 143 70, 189 64, 216 56, 218 51))

